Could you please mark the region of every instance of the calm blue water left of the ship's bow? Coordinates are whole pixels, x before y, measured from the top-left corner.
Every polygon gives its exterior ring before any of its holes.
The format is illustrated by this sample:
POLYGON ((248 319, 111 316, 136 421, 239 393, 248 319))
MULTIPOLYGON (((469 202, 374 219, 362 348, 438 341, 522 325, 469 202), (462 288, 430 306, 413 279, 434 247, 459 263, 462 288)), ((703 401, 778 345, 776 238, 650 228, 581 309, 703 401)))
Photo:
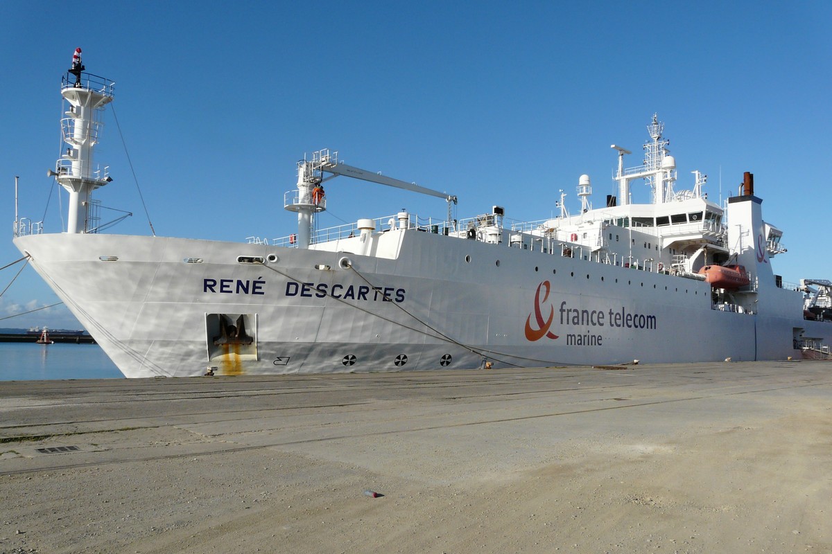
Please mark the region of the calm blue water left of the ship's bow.
POLYGON ((0 380, 123 378, 101 346, 0 342, 0 380))

